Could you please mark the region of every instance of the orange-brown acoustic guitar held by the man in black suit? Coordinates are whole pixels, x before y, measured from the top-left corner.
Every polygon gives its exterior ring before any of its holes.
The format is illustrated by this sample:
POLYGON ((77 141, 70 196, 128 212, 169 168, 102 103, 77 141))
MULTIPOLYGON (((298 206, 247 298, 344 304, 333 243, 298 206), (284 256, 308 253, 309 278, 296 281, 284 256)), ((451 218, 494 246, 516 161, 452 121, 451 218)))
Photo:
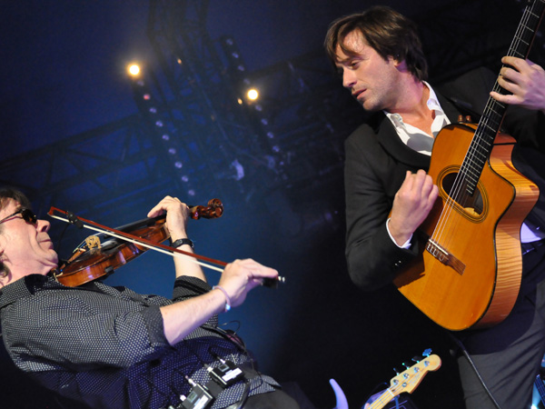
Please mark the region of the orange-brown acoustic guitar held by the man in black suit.
MULTIPOLYGON (((507 55, 528 55, 544 10, 545 0, 526 6, 507 55)), ((507 94, 497 82, 493 90, 507 94)), ((490 97, 478 125, 448 125, 437 135, 429 175, 440 197, 416 233, 420 255, 394 279, 412 304, 454 331, 500 323, 520 289, 520 226, 539 189, 511 163, 515 140, 499 134, 505 109, 490 97)))

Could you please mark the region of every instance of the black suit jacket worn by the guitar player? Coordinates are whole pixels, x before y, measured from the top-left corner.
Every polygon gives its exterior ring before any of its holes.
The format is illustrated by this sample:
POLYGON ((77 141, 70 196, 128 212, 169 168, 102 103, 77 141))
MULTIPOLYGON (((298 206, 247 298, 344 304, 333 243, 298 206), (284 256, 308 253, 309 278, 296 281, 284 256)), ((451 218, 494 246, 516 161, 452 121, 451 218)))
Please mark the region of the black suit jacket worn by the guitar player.
MULTIPOLYGON (((494 78, 490 71, 478 70, 444 87, 434 88, 451 123, 457 122, 459 115, 479 115, 482 112, 494 78), (441 92, 443 89, 446 91, 441 92), (449 99, 443 95, 449 95, 449 99)), ((536 167, 545 168, 540 165, 545 164, 545 155, 539 152, 542 146, 537 142, 543 140, 540 132, 545 130, 542 116, 526 110, 512 113, 508 110, 504 124, 509 125, 510 135, 520 137, 520 148, 513 154, 517 156, 513 157, 515 165, 525 175, 533 176, 532 180, 540 179, 541 192, 545 192, 545 177, 535 172, 536 167), (523 135, 525 133, 529 134, 523 135), (529 152, 534 156, 531 161, 526 159, 529 152), (528 162, 533 162, 533 165, 528 162)), ((478 119, 474 118, 475 121, 478 119)), ((416 255, 416 246, 401 249, 391 241, 386 220, 406 171, 427 171, 430 156, 404 145, 390 120, 382 113, 373 115, 367 124, 361 125, 347 138, 345 154, 348 269, 355 284, 364 290, 373 290, 391 283, 401 266, 416 255)), ((543 200, 543 195, 540 200, 543 200)), ((545 209, 545 205, 538 207, 545 209)), ((533 224, 545 226, 545 217, 533 224)))

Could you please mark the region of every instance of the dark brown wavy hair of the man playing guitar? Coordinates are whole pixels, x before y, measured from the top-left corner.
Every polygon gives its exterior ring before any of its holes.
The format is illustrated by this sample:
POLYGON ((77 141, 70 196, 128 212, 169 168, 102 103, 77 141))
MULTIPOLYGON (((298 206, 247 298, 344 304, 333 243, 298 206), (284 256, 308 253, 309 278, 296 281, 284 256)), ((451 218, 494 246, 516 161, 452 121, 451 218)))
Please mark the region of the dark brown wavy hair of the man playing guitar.
POLYGON ((335 63, 337 46, 346 55, 356 55, 344 39, 352 32, 359 32, 367 45, 372 46, 384 60, 391 56, 405 61, 407 68, 421 81, 428 77, 428 63, 422 52, 421 39, 416 25, 390 7, 373 6, 362 13, 345 15, 333 21, 325 35, 324 47, 335 63))

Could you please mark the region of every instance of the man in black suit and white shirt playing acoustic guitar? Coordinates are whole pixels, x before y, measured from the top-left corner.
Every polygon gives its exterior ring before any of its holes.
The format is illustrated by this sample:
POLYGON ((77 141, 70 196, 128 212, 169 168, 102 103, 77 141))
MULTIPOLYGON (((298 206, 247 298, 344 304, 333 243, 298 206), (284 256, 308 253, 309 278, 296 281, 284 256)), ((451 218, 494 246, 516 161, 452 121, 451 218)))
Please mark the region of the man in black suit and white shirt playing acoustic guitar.
MULTIPOLYGON (((415 26, 383 6, 333 22, 325 48, 342 85, 372 113, 345 143, 346 257, 352 281, 370 291, 417 254, 413 234, 438 196, 426 174, 434 136, 459 115, 482 112, 495 78, 489 86, 478 71, 432 87, 415 26)), ((519 58, 502 62, 511 68, 501 69, 498 84, 512 95, 491 96, 510 105, 503 125, 518 141, 513 162, 541 194, 521 229, 522 283, 511 314, 489 329, 456 333, 483 380, 462 355, 468 409, 530 407, 545 353, 545 71, 519 58)))

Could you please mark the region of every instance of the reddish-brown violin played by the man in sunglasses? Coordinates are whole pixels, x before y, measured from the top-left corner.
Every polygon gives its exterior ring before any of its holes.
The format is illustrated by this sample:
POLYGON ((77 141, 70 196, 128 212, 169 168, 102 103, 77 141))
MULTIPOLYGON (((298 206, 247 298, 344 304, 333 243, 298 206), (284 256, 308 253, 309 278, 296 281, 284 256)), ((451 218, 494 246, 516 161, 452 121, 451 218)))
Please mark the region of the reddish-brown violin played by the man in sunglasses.
MULTIPOLYGON (((190 206, 189 210, 190 217, 194 220, 200 218, 214 219, 223 215, 223 204, 219 199, 212 199, 206 206, 190 206)), ((54 216, 55 211, 66 214, 68 222, 73 224, 78 224, 78 222, 81 224, 82 220, 84 220, 82 218, 74 219, 74 214, 54 207, 51 208, 49 214, 54 216)), ((90 223, 90 221, 85 222, 90 223)), ((85 239, 84 246, 78 247, 64 264, 55 269, 54 277, 59 283, 69 287, 89 283, 97 278, 105 278, 107 275, 114 273, 117 268, 144 254, 150 248, 150 245, 144 244, 157 245, 169 239, 170 234, 166 229, 165 222, 166 214, 162 214, 111 229, 118 233, 130 234, 133 236, 134 241, 125 240, 127 237, 124 239, 123 236, 114 236, 101 244, 97 235, 89 236, 85 239)), ((185 254, 182 250, 173 250, 185 254)), ((208 260, 211 261, 212 259, 208 260)), ((217 260, 213 260, 213 262, 217 262, 217 260)), ((223 262, 218 263, 223 264, 223 262)))

